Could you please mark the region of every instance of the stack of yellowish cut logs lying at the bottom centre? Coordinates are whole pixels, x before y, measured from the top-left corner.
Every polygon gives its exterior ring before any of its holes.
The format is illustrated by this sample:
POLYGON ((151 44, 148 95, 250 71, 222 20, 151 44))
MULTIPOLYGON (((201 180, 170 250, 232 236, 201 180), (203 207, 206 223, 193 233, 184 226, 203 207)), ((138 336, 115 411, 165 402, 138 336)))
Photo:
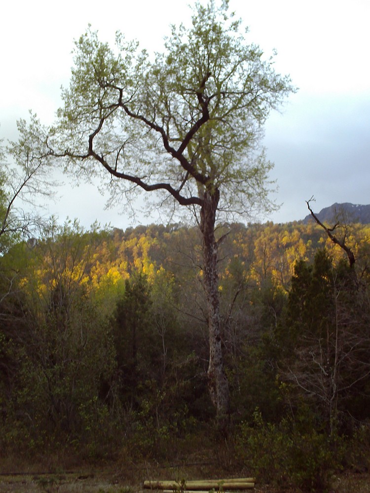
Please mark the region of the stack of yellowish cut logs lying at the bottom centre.
MULTIPOLYGON (((235 478, 235 479, 213 479, 213 480, 199 480, 199 481, 186 481, 186 491, 209 491, 212 489, 222 490, 244 490, 253 488, 251 486, 256 482, 256 478, 235 478)), ((144 488, 151 488, 153 490, 179 490, 181 489, 181 483, 177 481, 144 481, 144 488)))

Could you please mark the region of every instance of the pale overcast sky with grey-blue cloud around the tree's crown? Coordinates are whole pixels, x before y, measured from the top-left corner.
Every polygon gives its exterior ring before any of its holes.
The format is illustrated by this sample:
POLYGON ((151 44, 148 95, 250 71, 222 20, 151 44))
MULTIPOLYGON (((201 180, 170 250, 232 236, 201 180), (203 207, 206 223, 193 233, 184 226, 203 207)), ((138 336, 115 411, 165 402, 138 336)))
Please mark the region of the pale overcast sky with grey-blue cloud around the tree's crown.
MULTIPOLYGON (((73 64, 73 41, 88 24, 113 44, 120 30, 143 48, 160 51, 169 25, 190 19, 189 0, 13 0, 1 10, 0 137, 16 139, 16 120, 29 109, 50 124, 61 106, 73 64)), ((248 41, 278 52, 275 68, 291 75, 299 91, 272 113, 264 145, 275 163, 274 198, 280 211, 262 218, 288 222, 334 202, 370 204, 370 1, 230 0, 248 41)), ((127 218, 104 210, 92 186, 63 189, 49 213, 78 217, 88 227, 125 228, 127 218)), ((135 225, 139 222, 137 219, 135 225)), ((248 221, 248 218, 246 218, 248 221)), ((151 222, 142 219, 143 223, 151 222)))

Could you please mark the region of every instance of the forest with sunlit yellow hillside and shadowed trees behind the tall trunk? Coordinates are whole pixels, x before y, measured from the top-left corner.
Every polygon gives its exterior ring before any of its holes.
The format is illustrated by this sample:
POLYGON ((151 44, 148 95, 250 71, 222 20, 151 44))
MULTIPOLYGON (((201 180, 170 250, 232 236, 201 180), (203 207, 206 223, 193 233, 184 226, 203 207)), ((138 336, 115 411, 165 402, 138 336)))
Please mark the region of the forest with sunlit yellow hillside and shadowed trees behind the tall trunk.
POLYGON ((308 489, 366 470, 370 227, 342 233, 352 268, 314 222, 217 227, 222 436, 198 228, 51 219, 13 241, 0 257, 1 456, 166 462, 208 448, 229 473, 308 489))

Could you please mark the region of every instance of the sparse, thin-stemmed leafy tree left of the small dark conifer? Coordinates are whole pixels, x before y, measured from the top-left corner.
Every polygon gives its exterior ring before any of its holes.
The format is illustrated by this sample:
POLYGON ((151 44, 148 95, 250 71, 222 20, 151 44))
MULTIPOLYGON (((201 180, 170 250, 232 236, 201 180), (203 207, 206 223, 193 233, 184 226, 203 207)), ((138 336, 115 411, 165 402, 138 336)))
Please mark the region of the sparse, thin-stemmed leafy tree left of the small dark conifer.
POLYGON ((64 438, 80 433, 82 440, 114 392, 109 319, 92 296, 88 276, 96 239, 95 230, 86 232, 77 221, 58 226, 51 220, 26 251, 20 280, 26 316, 18 325, 27 331, 18 342, 21 390, 13 397, 16 408, 28 409, 38 439, 47 429, 49 438, 60 431, 64 438))

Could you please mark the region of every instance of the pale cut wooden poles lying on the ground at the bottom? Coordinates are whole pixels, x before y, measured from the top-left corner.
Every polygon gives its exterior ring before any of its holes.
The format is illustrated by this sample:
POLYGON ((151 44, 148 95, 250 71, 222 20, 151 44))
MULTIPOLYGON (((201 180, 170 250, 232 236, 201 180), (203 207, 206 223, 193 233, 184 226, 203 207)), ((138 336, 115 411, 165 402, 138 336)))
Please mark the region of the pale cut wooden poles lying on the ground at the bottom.
POLYGON ((144 481, 144 488, 163 490, 163 493, 208 493, 210 491, 228 493, 251 490, 256 478, 210 479, 200 481, 144 481))

